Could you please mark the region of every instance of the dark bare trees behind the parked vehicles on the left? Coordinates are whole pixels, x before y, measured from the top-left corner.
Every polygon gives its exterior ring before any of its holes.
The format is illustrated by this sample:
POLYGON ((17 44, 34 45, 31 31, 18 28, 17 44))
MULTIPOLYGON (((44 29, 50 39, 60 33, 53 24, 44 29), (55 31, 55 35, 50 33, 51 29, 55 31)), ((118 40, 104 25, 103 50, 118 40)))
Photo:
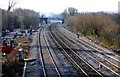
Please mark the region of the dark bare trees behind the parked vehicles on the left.
POLYGON ((39 25, 39 13, 33 10, 21 8, 17 8, 12 12, 9 11, 10 8, 0 10, 2 10, 2 30, 37 28, 39 25))

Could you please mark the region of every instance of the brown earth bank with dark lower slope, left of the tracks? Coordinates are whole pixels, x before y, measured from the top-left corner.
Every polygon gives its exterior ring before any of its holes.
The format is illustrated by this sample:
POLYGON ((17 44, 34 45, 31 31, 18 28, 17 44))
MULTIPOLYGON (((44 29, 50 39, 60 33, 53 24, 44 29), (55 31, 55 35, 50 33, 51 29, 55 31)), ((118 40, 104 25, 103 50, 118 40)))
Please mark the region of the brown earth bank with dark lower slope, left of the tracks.
POLYGON ((32 37, 20 37, 14 40, 16 46, 7 54, 2 55, 2 77, 21 77, 24 67, 24 59, 28 58, 32 37), (22 55, 20 55, 20 49, 22 49, 22 55), (22 61, 20 57, 22 56, 22 61))

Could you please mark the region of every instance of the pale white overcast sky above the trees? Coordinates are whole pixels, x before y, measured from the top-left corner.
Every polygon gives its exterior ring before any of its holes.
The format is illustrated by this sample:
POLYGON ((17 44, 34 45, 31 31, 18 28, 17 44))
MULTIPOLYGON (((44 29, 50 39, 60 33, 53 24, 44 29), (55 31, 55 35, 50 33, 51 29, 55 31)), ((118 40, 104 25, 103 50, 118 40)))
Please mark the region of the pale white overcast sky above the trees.
MULTIPOLYGON (((9 0, 0 0, 0 8, 7 9, 9 0)), ((42 13, 61 13, 65 8, 74 7, 79 12, 117 12, 120 0, 15 0, 15 8, 33 9, 42 13)))

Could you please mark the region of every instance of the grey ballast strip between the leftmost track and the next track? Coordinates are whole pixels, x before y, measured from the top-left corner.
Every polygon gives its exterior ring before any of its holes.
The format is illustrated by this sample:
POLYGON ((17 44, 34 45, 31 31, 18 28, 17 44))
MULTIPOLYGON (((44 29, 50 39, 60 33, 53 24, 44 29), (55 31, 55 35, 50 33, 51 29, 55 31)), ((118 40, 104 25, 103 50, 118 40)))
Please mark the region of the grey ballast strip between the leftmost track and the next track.
POLYGON ((55 62, 60 70, 61 75, 64 76, 71 76, 71 77, 78 77, 79 73, 74 68, 74 66, 70 63, 70 61, 65 57, 65 54, 62 52, 62 49, 57 47, 55 41, 49 34, 49 28, 46 32, 46 36, 48 42, 50 43, 50 49, 52 49, 52 55, 55 59, 55 62))

